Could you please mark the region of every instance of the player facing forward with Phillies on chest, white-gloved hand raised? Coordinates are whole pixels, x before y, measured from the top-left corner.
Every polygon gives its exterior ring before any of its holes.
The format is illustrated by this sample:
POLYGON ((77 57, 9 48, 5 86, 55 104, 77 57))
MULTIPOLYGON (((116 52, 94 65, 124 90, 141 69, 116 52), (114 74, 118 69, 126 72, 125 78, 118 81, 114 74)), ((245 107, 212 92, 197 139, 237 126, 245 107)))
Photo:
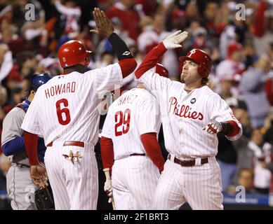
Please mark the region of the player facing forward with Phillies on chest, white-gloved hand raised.
POLYGON ((168 49, 179 48, 187 32, 176 31, 153 48, 135 71, 147 90, 159 99, 166 149, 169 153, 154 196, 154 209, 223 209, 222 181, 217 154, 222 132, 227 139, 241 137, 232 110, 208 88, 211 57, 192 49, 185 57, 181 83, 160 77, 154 65, 168 49))

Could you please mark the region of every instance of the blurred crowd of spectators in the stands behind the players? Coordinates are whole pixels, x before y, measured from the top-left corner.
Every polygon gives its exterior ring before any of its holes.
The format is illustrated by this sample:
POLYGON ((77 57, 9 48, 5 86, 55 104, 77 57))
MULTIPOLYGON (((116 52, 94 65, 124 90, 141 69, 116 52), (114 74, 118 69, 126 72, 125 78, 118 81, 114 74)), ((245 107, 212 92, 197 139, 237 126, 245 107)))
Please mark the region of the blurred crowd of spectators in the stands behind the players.
MULTIPOLYGON (((168 50, 161 59, 172 80, 180 77, 180 55, 192 48, 211 55, 209 86, 225 99, 244 129, 234 142, 218 134, 223 190, 235 193, 241 185, 248 193, 268 194, 273 188, 271 0, 0 0, 0 135, 6 113, 25 98, 29 78, 62 73, 57 55, 62 43, 82 41, 93 52, 88 69, 116 62, 107 39, 89 32, 95 28, 95 6, 105 10, 138 63, 171 32, 188 31, 182 48, 168 50), (25 16, 27 3, 34 5, 34 21, 25 16)), ((3 154, 0 169, 3 190, 8 169, 3 154)))

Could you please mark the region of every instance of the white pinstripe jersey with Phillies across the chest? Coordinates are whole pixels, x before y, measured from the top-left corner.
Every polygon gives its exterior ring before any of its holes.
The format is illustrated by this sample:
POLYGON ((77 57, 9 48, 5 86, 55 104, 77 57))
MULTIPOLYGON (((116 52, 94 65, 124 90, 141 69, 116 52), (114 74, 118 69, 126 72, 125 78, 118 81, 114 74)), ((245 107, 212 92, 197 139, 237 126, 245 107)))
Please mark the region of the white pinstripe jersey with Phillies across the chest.
POLYGON ((161 112, 165 146, 177 158, 204 158, 218 153, 218 138, 202 127, 215 119, 218 122, 234 120, 240 132, 229 140, 241 137, 242 129, 225 100, 203 86, 187 93, 185 84, 171 81, 149 69, 139 79, 154 94, 161 112))

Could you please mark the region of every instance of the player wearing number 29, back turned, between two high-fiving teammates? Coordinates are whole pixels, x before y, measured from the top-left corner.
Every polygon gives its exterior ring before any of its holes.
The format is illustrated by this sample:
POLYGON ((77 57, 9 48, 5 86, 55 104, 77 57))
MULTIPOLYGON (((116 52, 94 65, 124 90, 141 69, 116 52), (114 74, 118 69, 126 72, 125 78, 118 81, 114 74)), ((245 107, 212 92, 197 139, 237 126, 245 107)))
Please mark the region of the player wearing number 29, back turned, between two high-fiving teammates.
MULTIPOLYGON (((157 73, 168 76, 160 64, 157 73)), ((105 191, 109 197, 113 194, 117 210, 152 209, 165 162, 157 141, 160 126, 157 99, 142 84, 109 107, 100 147, 103 167, 112 169, 112 183, 105 182, 105 191)))

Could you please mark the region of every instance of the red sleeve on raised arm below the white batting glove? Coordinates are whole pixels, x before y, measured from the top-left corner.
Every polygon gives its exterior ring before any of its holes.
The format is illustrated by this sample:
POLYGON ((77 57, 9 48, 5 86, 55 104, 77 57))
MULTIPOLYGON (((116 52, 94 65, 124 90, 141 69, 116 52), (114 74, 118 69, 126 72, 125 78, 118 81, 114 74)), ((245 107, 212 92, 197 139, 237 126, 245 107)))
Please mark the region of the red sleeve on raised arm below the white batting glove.
POLYGON ((152 50, 145 56, 138 69, 135 70, 135 77, 140 78, 146 71, 156 66, 157 62, 159 62, 159 59, 164 55, 166 50, 167 49, 162 42, 152 48, 152 50))

